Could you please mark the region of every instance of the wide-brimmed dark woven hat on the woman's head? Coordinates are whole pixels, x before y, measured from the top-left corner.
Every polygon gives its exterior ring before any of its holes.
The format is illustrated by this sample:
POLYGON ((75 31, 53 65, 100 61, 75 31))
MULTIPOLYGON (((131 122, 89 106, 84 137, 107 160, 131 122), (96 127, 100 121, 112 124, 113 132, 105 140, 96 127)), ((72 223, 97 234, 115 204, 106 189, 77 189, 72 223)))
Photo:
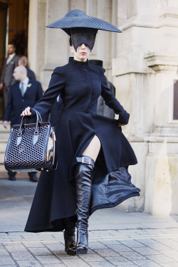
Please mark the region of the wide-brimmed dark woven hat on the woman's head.
POLYGON ((62 19, 58 19, 58 21, 49 24, 47 27, 62 28, 69 36, 71 28, 95 28, 102 31, 115 31, 117 33, 122 33, 119 28, 107 21, 94 18, 93 16, 88 16, 79 9, 69 11, 62 19))

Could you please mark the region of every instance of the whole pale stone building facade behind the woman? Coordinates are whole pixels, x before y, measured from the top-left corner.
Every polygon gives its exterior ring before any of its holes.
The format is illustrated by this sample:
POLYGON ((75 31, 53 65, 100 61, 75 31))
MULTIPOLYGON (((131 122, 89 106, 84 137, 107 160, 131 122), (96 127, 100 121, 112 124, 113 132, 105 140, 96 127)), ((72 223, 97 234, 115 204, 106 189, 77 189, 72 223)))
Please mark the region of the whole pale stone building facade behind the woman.
POLYGON ((46 25, 71 9, 122 31, 99 31, 90 55, 103 61, 117 99, 130 112, 123 131, 137 155, 130 172, 141 196, 120 207, 155 216, 178 214, 178 1, 30 0, 28 59, 44 89, 53 68, 71 56, 66 33, 46 25))

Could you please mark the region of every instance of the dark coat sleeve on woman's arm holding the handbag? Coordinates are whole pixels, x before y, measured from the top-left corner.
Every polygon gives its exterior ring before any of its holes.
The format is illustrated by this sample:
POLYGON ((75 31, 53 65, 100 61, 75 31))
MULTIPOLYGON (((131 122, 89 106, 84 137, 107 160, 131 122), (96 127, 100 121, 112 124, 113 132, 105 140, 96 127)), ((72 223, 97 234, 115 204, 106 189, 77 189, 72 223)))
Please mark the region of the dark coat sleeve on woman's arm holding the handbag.
POLYGON ((31 108, 32 117, 36 115, 35 110, 43 115, 51 110, 53 103, 55 103, 58 95, 61 95, 66 85, 66 73, 62 67, 56 68, 51 75, 51 80, 48 89, 44 93, 43 97, 38 100, 36 105, 31 108))

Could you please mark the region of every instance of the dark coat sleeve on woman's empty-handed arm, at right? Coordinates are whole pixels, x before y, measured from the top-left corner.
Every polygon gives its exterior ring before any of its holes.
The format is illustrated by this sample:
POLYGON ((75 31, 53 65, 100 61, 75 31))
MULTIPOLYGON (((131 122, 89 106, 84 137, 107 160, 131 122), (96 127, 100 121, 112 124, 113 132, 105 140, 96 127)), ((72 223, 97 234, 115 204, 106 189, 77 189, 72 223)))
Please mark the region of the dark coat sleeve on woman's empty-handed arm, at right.
POLYGON ((105 78, 105 70, 100 68, 101 71, 101 95, 105 100, 105 104, 108 105, 109 108, 114 110, 115 114, 119 115, 118 122, 120 124, 126 125, 129 121, 129 113, 120 105, 119 101, 115 98, 115 96, 111 93, 110 88, 108 88, 107 79, 105 78))

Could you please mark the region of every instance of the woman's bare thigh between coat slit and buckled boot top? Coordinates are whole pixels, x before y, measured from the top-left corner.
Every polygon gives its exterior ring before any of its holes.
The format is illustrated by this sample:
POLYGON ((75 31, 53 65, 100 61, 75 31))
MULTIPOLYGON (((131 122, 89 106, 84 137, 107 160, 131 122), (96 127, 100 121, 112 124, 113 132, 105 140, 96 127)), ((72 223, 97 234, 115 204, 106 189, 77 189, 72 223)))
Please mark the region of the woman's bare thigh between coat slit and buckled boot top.
POLYGON ((82 155, 91 157, 95 162, 98 157, 99 152, 100 152, 100 140, 95 135, 93 137, 93 140, 91 140, 90 144, 88 145, 88 147, 83 151, 82 155))

